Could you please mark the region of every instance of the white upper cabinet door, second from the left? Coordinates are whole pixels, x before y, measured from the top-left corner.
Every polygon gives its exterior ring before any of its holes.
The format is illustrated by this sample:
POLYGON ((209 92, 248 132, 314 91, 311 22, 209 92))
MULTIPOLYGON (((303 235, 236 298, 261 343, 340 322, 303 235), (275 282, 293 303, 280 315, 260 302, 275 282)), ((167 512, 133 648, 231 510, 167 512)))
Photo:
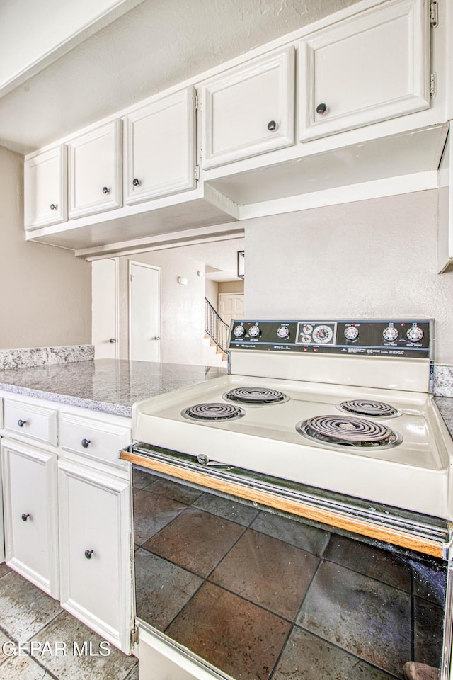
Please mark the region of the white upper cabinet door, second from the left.
POLYGON ((69 217, 122 206, 122 121, 69 142, 69 217))

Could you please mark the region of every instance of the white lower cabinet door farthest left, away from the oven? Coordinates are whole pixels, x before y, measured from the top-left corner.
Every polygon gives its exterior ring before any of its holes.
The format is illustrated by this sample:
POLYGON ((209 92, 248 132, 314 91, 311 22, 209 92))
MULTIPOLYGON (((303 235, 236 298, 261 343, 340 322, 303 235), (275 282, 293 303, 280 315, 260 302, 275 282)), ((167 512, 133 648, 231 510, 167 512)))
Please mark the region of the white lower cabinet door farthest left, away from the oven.
POLYGON ((57 456, 8 439, 1 455, 6 563, 58 598, 57 456))

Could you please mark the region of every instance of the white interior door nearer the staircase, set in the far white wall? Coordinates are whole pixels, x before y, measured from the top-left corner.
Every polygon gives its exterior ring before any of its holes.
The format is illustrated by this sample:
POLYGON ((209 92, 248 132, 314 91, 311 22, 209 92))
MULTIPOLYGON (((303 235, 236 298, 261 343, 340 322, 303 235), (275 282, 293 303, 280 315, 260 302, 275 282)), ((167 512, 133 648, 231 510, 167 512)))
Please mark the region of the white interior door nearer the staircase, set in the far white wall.
POLYGON ((161 270, 130 262, 130 359, 160 361, 161 270))

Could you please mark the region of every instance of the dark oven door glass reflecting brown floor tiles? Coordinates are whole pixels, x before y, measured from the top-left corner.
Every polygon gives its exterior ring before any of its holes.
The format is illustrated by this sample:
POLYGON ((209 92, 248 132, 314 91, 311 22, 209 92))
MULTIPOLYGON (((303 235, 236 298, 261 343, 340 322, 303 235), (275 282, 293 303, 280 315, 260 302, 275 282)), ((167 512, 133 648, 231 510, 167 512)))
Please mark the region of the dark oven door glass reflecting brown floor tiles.
POLYGON ((411 659, 440 665, 440 560, 134 475, 137 616, 226 674, 394 680, 411 659))

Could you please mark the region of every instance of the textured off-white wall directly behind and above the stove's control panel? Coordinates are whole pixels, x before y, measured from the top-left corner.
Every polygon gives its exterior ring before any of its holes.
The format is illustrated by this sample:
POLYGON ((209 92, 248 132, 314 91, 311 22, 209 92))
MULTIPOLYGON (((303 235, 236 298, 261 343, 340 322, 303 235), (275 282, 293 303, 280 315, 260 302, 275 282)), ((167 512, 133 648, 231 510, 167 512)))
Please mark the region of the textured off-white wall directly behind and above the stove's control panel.
POLYGON ((453 364, 453 272, 437 274, 437 190, 245 223, 245 316, 435 319, 453 364))

